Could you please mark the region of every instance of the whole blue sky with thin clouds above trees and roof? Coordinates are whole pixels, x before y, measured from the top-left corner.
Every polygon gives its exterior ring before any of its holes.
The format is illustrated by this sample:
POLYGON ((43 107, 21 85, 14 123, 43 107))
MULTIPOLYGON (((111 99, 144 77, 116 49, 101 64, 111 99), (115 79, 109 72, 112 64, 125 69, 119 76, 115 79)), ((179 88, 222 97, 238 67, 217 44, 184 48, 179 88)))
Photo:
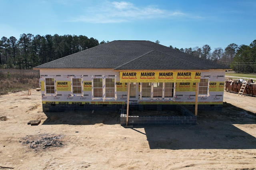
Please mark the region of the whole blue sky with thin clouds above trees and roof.
POLYGON ((85 35, 177 48, 256 39, 256 0, 0 0, 0 38, 85 35))

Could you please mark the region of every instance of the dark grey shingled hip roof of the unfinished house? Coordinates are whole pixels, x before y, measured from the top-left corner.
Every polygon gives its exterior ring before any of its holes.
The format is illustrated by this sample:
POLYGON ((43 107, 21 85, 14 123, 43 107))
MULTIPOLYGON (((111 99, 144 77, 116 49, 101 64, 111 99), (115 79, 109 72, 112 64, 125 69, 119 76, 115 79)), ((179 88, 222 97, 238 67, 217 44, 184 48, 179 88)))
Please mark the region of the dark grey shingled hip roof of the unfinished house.
POLYGON ((39 65, 43 68, 115 70, 208 70, 226 66, 151 41, 112 41, 39 65))

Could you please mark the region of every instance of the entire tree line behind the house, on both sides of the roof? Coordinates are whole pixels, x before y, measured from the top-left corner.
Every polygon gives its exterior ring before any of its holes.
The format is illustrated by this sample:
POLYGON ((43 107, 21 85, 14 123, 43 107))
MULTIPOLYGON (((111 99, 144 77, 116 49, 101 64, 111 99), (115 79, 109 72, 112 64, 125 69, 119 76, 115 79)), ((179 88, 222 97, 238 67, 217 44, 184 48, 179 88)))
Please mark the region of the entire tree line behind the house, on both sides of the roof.
MULTIPOLYGON (((34 66, 83 51, 97 45, 108 43, 84 35, 32 35, 22 34, 16 37, 2 37, 0 40, 0 68, 30 69, 34 66)), ((156 40, 156 43, 160 41, 156 40)), ((231 43, 225 49, 212 51, 209 45, 194 48, 170 48, 189 53, 199 58, 211 60, 232 68, 236 72, 256 72, 256 40, 250 45, 231 43), (211 52, 212 51, 212 52, 211 52)))

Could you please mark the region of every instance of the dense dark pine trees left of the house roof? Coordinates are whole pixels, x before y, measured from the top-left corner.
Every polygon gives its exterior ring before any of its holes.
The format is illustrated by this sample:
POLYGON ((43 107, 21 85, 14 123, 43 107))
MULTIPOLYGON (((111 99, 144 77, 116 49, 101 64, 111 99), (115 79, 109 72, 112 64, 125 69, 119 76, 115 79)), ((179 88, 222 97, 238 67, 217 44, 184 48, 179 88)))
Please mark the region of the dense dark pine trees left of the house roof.
MULTIPOLYGON (((105 43, 102 41, 101 43, 105 43)), ((99 45, 97 39, 84 35, 32 35, 2 37, 0 68, 30 69, 34 66, 65 57, 99 45)))

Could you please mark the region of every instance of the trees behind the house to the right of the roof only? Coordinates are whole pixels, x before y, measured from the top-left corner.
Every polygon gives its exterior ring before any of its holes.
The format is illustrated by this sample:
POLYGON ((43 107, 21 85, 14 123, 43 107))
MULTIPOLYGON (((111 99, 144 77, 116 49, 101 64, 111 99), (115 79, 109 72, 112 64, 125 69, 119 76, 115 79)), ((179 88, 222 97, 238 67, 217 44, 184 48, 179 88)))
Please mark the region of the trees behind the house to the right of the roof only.
MULTIPOLYGON (((156 43, 159 41, 157 40, 156 43)), ((256 40, 250 45, 238 46, 231 43, 224 50, 219 47, 212 52, 209 45, 185 49, 170 45, 170 48, 228 66, 238 73, 256 73, 256 40)))

